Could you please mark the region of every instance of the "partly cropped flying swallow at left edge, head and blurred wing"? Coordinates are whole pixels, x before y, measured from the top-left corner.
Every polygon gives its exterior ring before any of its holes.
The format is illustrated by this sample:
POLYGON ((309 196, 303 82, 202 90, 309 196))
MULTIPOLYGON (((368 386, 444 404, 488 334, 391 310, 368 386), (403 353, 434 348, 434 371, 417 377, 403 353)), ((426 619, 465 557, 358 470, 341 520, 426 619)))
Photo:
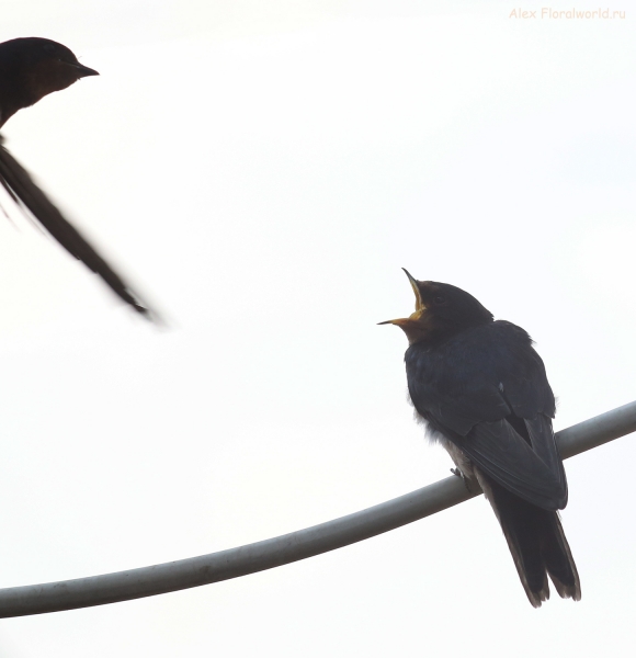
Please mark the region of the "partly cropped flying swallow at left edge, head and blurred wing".
MULTIPOLYGON (((80 64, 66 46, 54 41, 27 37, 0 44, 0 127, 19 110, 87 76, 99 73, 80 64)), ((0 184, 13 201, 27 209, 71 256, 101 276, 124 302, 143 316, 154 317, 139 296, 63 216, 2 141, 0 136, 0 184)))

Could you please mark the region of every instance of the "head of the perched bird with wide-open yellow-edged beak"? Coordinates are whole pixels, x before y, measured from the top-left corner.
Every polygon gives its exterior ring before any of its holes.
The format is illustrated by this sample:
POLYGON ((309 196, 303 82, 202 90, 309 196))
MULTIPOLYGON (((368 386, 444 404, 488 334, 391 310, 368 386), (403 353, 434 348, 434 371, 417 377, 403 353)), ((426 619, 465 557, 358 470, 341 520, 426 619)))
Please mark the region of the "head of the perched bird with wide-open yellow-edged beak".
POLYGON ((436 281, 417 281, 405 272, 416 294, 416 311, 408 318, 379 324, 400 327, 410 344, 443 341, 492 321, 492 314, 462 288, 436 281))

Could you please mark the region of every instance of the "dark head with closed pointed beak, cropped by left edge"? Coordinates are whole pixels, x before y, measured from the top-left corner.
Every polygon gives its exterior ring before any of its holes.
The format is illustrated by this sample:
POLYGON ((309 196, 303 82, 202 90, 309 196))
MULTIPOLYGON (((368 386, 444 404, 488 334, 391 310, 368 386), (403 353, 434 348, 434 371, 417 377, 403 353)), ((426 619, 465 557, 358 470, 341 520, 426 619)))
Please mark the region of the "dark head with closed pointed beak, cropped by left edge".
POLYGON ((48 38, 31 36, 0 44, 0 126, 22 107, 87 76, 99 73, 48 38))

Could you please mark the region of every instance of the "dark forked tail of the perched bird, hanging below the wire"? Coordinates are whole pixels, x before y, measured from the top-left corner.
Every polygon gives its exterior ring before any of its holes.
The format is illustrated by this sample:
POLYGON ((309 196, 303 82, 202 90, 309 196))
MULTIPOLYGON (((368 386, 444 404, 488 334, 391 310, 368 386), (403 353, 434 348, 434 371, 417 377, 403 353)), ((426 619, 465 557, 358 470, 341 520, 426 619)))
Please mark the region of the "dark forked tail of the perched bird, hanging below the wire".
POLYGON ((564 599, 579 601, 581 585, 558 512, 538 508, 475 469, 508 542, 514 566, 534 608, 549 599, 547 576, 564 599))

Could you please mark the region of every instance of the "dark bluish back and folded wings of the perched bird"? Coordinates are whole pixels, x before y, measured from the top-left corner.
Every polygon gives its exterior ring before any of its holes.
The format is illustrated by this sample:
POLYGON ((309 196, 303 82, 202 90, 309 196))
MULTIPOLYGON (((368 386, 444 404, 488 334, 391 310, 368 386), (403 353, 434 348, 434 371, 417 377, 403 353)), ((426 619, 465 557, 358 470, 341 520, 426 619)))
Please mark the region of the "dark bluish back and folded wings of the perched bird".
POLYGON ((567 484, 550 417, 554 395, 531 339, 497 321, 407 351, 411 399, 436 431, 508 490, 563 509, 567 484))

